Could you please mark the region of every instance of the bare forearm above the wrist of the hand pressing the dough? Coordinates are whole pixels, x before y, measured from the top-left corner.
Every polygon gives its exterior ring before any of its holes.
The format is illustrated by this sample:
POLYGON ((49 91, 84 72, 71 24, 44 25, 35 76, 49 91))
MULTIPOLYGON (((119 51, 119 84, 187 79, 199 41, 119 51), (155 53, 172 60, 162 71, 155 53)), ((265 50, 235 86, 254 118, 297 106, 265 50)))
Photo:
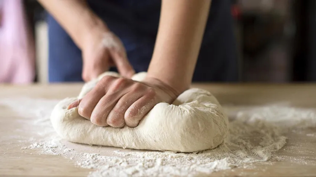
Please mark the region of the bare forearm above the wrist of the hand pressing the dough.
POLYGON ((178 92, 191 85, 211 0, 162 0, 155 49, 148 77, 178 92))

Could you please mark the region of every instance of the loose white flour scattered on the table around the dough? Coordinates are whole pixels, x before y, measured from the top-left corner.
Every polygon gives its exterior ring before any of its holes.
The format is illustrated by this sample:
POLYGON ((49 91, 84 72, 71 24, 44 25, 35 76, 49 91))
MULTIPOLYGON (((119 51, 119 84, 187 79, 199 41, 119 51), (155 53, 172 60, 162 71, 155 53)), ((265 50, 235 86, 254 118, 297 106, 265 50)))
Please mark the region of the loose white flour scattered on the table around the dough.
MULTIPOLYGON (((5 99, 0 104, 9 106, 25 119, 29 132, 26 149, 40 154, 62 155, 77 166, 94 169, 89 176, 203 176, 235 167, 251 168, 253 162, 264 162, 273 152, 286 144, 287 132, 316 127, 316 112, 288 106, 251 107, 240 111, 225 107, 230 115, 229 135, 224 143, 213 150, 196 153, 171 151, 115 150, 102 154, 82 153, 66 147, 53 130, 50 113, 57 100, 5 99)), ((308 136, 314 136, 310 134, 308 136)), ((23 140, 21 140, 23 141, 23 140)))

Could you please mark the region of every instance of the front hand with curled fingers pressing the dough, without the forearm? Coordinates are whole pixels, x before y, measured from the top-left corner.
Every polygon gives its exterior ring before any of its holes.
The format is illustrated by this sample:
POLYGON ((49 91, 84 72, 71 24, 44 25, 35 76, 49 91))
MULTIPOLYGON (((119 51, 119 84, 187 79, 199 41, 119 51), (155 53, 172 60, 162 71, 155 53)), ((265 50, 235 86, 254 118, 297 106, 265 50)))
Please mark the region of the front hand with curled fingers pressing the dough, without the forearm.
POLYGON ((136 82, 105 76, 68 109, 78 106, 79 114, 98 126, 136 127, 157 103, 172 103, 179 94, 155 78, 147 77, 143 82, 136 82))

